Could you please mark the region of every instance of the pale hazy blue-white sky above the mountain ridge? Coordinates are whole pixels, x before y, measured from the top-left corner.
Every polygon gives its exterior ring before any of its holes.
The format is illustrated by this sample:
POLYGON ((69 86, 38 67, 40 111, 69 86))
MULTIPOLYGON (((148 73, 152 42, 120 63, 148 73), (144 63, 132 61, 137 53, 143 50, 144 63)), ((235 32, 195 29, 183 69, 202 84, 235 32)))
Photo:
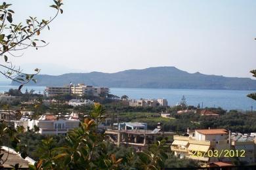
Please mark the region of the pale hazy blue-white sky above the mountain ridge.
MULTIPOLYGON (((9 1, 14 22, 48 18, 51 0, 9 1)), ((256 1, 64 0, 64 14, 16 64, 56 63, 63 71, 175 66, 189 73, 251 77, 256 69, 256 1)), ((47 64, 45 64, 47 65, 47 64)), ((35 65, 37 67, 37 65, 35 65)), ((56 68, 47 68, 47 73, 56 68)), ((25 68, 26 69, 26 68, 25 68)), ((44 69, 41 64, 41 69, 44 69)), ((42 71, 42 73, 46 73, 42 71)))

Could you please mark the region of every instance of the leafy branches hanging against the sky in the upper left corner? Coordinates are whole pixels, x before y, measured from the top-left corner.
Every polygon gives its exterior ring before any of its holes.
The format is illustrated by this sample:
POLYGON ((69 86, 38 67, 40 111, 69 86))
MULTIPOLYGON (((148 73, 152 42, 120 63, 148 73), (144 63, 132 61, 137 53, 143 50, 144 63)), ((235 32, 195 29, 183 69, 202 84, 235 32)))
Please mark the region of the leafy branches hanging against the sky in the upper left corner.
POLYGON ((54 0, 54 5, 50 7, 56 9, 56 14, 49 20, 38 20, 37 17, 30 16, 26 23, 17 24, 12 22, 12 16, 15 12, 10 9, 11 4, 3 2, 0 5, 0 58, 5 59, 5 63, 0 64, 0 73, 2 75, 22 84, 26 84, 30 80, 36 81, 33 76, 39 73, 39 69, 35 69, 35 73, 32 74, 24 73, 20 67, 12 65, 10 58, 22 56, 18 52, 26 48, 32 47, 37 50, 47 46, 48 43, 38 39, 38 37, 43 29, 50 29, 49 24, 53 22, 59 13, 63 12, 60 9, 62 5, 62 0, 54 0))

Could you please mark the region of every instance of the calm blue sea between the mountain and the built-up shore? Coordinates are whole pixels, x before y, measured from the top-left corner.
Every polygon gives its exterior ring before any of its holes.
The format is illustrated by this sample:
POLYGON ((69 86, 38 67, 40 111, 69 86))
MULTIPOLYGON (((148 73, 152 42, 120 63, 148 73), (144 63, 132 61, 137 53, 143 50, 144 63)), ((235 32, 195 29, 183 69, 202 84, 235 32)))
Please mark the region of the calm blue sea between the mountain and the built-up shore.
MULTIPOLYGON (((8 92, 10 88, 18 86, 0 84, 0 92, 8 92)), ((26 86, 22 92, 35 90, 34 93, 43 93, 45 86, 26 86)), ((184 95, 188 105, 195 107, 222 107, 226 110, 251 111, 256 109, 256 101, 246 97, 250 90, 193 90, 193 89, 156 89, 156 88, 110 88, 110 93, 121 97, 127 95, 129 99, 167 99, 169 106, 177 105, 184 95)))

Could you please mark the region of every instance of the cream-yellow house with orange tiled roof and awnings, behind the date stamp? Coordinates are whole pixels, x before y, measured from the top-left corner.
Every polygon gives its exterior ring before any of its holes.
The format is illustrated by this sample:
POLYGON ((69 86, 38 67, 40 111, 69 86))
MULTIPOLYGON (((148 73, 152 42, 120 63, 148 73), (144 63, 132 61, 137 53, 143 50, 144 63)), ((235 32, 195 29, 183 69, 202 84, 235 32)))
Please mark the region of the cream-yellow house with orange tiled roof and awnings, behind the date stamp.
POLYGON ((175 152, 175 156, 178 158, 190 158, 203 163, 226 160, 224 156, 220 158, 208 156, 211 154, 209 150, 229 148, 226 129, 196 129, 195 131, 188 129, 186 136, 175 135, 173 139, 171 150, 175 152))

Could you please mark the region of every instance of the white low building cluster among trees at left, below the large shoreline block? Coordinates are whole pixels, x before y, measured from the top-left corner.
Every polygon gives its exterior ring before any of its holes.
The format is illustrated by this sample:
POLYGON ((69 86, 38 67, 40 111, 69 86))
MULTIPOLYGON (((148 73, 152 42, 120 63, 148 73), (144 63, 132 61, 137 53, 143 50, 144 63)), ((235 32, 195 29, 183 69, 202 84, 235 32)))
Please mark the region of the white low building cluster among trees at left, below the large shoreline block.
POLYGON ((29 118, 21 118, 14 121, 14 127, 23 126, 26 130, 39 127, 39 133, 58 135, 66 134, 70 129, 79 127, 78 114, 72 113, 68 116, 60 117, 54 115, 44 115, 38 120, 30 120, 29 118))

